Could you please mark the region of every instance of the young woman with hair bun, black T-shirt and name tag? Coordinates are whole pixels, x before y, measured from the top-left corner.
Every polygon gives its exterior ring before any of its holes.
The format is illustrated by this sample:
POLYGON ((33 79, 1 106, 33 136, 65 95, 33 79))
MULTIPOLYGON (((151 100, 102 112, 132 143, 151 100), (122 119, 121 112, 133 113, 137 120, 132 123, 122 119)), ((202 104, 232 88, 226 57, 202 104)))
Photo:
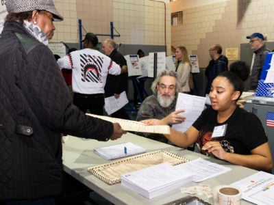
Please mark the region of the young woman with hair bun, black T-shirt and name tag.
MULTIPOLYGON (((256 115, 236 105, 248 77, 245 62, 232 63, 212 82, 211 107, 201 113, 188 131, 181 133, 171 128, 166 138, 184 148, 196 142, 202 154, 269 172, 273 161, 262 123, 256 115)), ((143 122, 152 124, 153 120, 143 122)))

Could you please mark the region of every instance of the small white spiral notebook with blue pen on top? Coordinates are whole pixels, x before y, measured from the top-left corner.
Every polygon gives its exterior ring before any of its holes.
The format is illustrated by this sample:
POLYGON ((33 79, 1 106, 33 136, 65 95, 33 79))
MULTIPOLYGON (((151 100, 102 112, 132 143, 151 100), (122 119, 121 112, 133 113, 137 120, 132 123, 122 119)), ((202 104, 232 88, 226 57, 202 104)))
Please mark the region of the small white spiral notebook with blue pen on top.
POLYGON ((126 156, 142 154, 145 148, 137 146, 132 142, 119 143, 112 146, 95 148, 94 152, 106 160, 119 159, 126 156))

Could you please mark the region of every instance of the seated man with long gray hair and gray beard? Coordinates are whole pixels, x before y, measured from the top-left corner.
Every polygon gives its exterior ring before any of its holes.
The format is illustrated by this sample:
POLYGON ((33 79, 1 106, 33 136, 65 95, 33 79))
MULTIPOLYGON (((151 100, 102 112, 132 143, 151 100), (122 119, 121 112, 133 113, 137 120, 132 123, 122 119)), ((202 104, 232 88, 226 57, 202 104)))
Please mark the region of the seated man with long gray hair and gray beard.
MULTIPOLYGON (((153 94, 145 98, 137 114, 137 121, 157 119, 159 125, 179 124, 186 119, 178 113, 184 110, 175 111, 177 93, 179 91, 179 82, 177 73, 174 70, 163 70, 158 74, 151 85, 153 94)), ((163 135, 146 135, 151 139, 167 143, 163 135)))

